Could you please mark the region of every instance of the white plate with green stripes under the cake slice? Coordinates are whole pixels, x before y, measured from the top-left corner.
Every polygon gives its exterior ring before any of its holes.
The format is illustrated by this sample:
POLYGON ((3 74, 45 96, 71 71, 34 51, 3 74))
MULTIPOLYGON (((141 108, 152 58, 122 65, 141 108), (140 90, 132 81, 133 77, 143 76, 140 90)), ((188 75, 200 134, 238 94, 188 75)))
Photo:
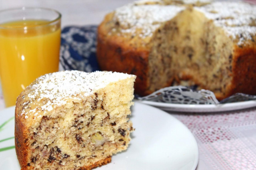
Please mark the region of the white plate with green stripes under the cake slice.
MULTIPOLYGON (((0 112, 0 141, 14 136, 14 107, 0 112)), ((128 149, 112 156, 99 170, 194 170, 198 145, 180 121, 154 107, 135 102, 131 120, 136 129, 128 149)), ((14 146, 14 138, 0 142, 0 148, 14 146)), ((15 149, 0 152, 1 170, 20 170, 15 149)))

